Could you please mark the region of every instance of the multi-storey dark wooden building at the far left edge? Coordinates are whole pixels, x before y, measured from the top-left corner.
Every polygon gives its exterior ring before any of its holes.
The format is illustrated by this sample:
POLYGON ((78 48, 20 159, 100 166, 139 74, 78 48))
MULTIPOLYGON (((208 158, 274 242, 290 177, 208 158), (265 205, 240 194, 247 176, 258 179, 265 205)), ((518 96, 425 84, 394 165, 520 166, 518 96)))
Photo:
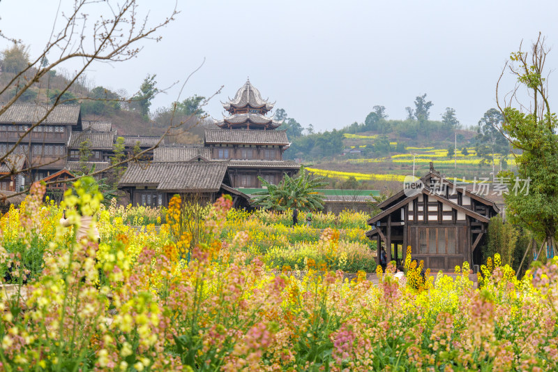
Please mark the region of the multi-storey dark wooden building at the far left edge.
POLYGON ((11 105, 0 115, 0 156, 24 136, 13 154, 26 157, 27 168, 32 168, 27 174, 29 181, 43 179, 64 168, 68 142, 81 131, 80 105, 57 105, 54 108, 34 104, 11 105), (52 111, 48 113, 49 110, 52 111), (40 124, 24 136, 39 121, 40 124))

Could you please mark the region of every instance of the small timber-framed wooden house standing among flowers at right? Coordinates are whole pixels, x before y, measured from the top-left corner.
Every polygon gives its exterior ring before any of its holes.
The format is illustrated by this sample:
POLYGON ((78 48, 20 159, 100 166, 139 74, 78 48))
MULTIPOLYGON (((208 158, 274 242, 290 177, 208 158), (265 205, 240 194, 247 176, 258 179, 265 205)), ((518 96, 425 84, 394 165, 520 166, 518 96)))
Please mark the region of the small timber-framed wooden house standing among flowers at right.
POLYGON ((445 179, 432 163, 415 186, 378 204, 382 212, 368 220, 372 230, 366 236, 375 239, 378 247, 390 247, 388 262, 400 251, 405 260, 411 246, 412 258, 423 260, 425 268, 432 270, 453 270, 465 261, 480 265, 479 247, 490 218, 499 212, 496 204, 445 179))

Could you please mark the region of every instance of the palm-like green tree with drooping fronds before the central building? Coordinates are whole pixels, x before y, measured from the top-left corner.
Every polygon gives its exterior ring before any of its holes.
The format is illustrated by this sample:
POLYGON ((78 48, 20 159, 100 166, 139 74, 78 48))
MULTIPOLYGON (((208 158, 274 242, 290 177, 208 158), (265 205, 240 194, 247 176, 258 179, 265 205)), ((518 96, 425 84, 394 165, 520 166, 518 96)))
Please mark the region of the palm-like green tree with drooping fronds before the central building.
POLYGON ((317 193, 316 188, 326 186, 324 177, 313 177, 301 165, 299 174, 289 177, 285 174, 278 185, 270 184, 258 177, 266 191, 254 193, 252 203, 264 209, 285 211, 296 208, 302 211, 315 211, 324 208, 324 197, 317 193))

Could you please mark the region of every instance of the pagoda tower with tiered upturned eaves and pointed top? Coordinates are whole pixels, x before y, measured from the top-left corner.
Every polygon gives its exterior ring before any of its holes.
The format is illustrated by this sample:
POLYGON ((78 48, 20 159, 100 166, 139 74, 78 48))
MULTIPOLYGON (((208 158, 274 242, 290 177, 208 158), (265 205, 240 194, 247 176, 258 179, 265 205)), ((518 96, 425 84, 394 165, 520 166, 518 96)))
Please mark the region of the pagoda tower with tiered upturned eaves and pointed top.
POLYGON ((220 128, 269 131, 282 124, 282 121, 265 116, 275 103, 264 100, 250 84, 250 79, 246 80, 246 84, 236 92, 234 98, 229 98, 228 102, 222 104, 229 115, 216 122, 220 128))

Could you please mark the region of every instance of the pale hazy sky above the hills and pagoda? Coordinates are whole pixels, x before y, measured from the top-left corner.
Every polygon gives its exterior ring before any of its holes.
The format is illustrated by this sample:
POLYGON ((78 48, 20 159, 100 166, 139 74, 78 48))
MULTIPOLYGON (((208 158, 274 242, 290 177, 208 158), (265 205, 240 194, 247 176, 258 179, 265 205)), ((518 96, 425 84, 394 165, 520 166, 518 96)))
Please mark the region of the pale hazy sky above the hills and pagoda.
MULTIPOLYGON (((137 2, 150 24, 174 6, 181 13, 160 29, 160 41, 141 42, 137 58, 96 64, 86 75, 95 86, 131 95, 147 74, 156 74, 158 87, 168 89, 153 100, 152 111, 194 94, 211 96, 223 86, 204 107, 220 119, 220 101, 234 97, 250 77, 276 109, 316 131, 361 123, 374 105, 385 106, 389 119, 405 119, 405 107, 414 107, 422 94, 433 103, 430 119, 453 107, 461 124, 472 126, 495 107, 499 75, 522 41, 529 47, 541 31, 554 49, 546 66, 558 67, 554 0, 137 2)), ((72 4, 1 0, 0 30, 29 45, 32 57, 43 50, 56 12, 72 4)), ((92 19, 107 10, 100 2, 88 12, 92 19)), ((8 46, 0 40, 0 50, 8 46)), ((77 64, 67 68, 71 73, 77 64)), ((513 80, 506 79, 508 90, 513 80)))

